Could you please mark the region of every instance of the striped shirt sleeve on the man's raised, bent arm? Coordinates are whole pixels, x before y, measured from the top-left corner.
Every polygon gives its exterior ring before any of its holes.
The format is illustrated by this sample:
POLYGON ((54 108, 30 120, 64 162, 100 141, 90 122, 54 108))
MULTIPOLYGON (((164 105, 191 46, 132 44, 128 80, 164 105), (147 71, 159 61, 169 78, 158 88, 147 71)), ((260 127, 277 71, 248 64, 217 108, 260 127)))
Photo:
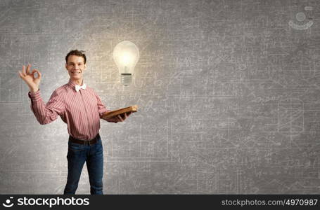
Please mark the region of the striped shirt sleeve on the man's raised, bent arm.
POLYGON ((28 95, 31 99, 31 110, 41 125, 51 123, 65 111, 63 99, 56 90, 51 94, 49 102, 46 104, 41 98, 40 90, 34 93, 29 92, 28 95))

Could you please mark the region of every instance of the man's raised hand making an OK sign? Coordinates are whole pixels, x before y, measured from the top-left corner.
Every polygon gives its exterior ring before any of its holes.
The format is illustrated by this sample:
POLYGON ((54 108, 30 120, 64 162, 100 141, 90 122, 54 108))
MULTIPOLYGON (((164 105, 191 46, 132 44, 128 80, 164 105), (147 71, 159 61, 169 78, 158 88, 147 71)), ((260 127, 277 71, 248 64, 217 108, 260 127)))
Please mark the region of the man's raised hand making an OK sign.
POLYGON ((27 65, 27 70, 25 70, 25 66, 23 66, 23 71, 18 71, 18 74, 29 86, 30 92, 37 92, 39 90, 41 73, 37 69, 33 69, 31 72, 30 68, 30 64, 27 65), (38 74, 37 78, 34 76, 34 73, 38 74))

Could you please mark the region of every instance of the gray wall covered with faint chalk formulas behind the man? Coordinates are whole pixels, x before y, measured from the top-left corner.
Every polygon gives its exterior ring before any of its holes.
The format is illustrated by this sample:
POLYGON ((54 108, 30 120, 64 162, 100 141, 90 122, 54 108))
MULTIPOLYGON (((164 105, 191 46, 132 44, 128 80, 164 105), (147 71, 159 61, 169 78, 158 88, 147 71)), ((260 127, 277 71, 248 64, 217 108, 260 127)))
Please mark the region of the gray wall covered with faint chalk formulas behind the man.
MULTIPOLYGON (((86 50, 101 120, 106 194, 320 193, 320 1, 0 1, 0 193, 63 193, 67 126, 39 125, 18 70, 41 94, 86 50), (305 16, 304 16, 305 15, 305 16), (313 23, 313 24, 312 24, 313 23), (139 46, 132 87, 112 52, 139 46)), ((84 167, 77 193, 89 193, 84 167)))

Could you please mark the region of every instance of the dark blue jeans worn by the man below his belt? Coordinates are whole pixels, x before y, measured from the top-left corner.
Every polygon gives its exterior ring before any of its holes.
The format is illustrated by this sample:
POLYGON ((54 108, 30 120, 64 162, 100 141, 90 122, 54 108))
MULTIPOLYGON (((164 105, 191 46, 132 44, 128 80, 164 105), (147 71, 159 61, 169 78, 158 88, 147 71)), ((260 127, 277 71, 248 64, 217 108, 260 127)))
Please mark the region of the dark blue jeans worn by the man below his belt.
POLYGON ((101 138, 97 140, 93 145, 68 142, 68 179, 64 194, 75 194, 84 162, 87 162, 91 195, 103 194, 103 147, 101 138))

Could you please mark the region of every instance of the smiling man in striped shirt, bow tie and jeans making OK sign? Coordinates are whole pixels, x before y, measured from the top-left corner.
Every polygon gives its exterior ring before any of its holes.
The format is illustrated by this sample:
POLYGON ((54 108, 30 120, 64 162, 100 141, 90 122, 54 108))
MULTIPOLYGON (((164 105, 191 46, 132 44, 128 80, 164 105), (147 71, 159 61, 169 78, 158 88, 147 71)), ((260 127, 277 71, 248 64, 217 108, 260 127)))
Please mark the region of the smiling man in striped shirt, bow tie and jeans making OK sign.
MULTIPOLYGON (((66 55, 65 69, 70 76, 69 83, 54 90, 47 104, 41 99, 39 90, 41 73, 37 69, 30 71, 30 64, 26 70, 23 66, 23 70, 18 72, 30 87, 31 109, 39 123, 48 124, 60 116, 68 124, 68 179, 64 194, 75 194, 84 162, 87 162, 90 193, 103 194, 103 147, 98 132, 100 118, 109 110, 94 89, 83 82, 86 62, 87 57, 83 51, 72 50, 66 55)), ((107 121, 122 122, 129 114, 115 116, 107 121)))

